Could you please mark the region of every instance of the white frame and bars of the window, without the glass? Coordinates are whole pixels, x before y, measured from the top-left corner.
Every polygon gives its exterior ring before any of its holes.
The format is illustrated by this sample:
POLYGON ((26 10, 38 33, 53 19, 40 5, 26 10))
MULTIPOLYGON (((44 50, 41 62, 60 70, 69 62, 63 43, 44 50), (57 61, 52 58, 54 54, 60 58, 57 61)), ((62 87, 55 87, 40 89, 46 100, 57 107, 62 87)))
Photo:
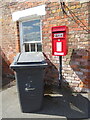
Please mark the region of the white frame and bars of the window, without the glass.
POLYGON ((25 52, 25 43, 29 44, 29 52, 31 52, 31 43, 35 43, 35 52, 37 52, 37 43, 41 43, 42 45, 42 20, 40 17, 36 17, 36 18, 28 18, 28 19, 24 19, 22 21, 19 21, 19 30, 20 30, 20 51, 21 52, 25 52), (23 40, 23 29, 22 29, 22 23, 23 22, 28 22, 28 21, 33 21, 33 20, 40 20, 40 35, 41 35, 41 40, 40 41, 30 41, 30 42, 24 42, 23 40))

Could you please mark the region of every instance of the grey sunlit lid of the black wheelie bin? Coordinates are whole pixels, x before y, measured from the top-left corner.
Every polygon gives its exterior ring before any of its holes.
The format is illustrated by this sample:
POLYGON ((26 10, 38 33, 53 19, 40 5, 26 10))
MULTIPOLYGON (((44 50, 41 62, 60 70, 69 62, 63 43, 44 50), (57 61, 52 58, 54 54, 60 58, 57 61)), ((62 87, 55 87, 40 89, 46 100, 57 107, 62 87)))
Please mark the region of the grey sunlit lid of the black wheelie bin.
POLYGON ((42 52, 23 52, 18 53, 10 67, 37 67, 47 66, 42 52))

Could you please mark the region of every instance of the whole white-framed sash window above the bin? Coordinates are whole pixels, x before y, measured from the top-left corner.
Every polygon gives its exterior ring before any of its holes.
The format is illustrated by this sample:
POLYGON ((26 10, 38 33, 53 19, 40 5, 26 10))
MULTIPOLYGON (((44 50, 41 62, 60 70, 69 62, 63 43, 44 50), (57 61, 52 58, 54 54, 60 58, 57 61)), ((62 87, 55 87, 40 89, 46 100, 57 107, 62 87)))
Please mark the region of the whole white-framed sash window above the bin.
POLYGON ((42 51, 41 21, 40 19, 23 21, 20 23, 20 40, 22 52, 42 51))

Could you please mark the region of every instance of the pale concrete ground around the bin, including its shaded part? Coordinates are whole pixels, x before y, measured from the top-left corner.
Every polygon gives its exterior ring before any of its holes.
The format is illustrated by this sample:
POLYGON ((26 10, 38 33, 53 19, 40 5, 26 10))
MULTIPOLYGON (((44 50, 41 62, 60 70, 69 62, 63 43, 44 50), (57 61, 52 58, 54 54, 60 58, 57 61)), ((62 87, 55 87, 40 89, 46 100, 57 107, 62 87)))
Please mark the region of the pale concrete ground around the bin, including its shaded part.
MULTIPOLYGON (((53 94, 45 94, 43 107, 37 113, 22 113, 16 86, 0 92, 2 97, 2 118, 82 118, 89 119, 90 99, 87 93, 71 93, 58 89, 53 94)), ((1 104, 0 104, 1 107, 1 104)))

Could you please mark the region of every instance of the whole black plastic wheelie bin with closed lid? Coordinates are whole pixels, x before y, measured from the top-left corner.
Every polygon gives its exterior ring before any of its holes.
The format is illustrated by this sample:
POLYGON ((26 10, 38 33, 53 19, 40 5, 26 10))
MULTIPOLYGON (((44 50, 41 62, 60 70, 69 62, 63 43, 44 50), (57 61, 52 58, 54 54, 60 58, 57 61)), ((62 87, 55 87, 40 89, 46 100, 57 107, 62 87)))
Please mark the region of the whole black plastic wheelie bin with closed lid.
POLYGON ((19 53, 10 65, 15 71, 22 112, 36 112, 42 107, 46 66, 41 52, 19 53))

